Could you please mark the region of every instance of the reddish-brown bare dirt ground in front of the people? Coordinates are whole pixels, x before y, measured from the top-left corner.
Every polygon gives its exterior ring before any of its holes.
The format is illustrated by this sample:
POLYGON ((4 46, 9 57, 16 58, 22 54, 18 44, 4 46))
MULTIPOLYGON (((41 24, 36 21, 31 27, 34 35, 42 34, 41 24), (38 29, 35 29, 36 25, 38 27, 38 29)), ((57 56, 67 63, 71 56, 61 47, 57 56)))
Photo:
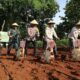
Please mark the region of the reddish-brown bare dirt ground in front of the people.
MULTIPOLYGON (((12 56, 6 56, 6 49, 2 49, 0 56, 0 80, 80 80, 80 62, 61 61, 62 54, 68 54, 67 48, 59 49, 59 58, 52 64, 45 64, 32 57, 32 49, 24 62, 13 61, 12 56)), ((12 50, 11 54, 15 51, 12 50)))

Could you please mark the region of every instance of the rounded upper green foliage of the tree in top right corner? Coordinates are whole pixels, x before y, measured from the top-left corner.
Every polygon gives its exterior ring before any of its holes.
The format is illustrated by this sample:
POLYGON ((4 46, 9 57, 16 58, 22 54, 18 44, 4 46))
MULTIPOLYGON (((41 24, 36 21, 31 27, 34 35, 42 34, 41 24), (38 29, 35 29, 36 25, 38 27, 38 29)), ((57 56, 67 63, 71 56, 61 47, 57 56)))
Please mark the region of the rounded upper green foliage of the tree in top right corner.
POLYGON ((80 20, 80 0, 70 0, 65 10, 66 17, 72 24, 80 20))

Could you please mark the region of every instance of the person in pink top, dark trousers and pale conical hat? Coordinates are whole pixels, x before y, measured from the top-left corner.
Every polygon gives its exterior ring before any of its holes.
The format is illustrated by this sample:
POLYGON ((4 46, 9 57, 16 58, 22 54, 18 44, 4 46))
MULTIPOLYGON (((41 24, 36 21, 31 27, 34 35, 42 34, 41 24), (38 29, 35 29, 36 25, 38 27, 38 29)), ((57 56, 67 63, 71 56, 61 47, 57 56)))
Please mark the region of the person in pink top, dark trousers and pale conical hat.
POLYGON ((39 30, 37 28, 38 22, 36 20, 32 20, 30 22, 30 26, 27 27, 27 37, 26 37, 26 45, 25 45, 25 53, 27 54, 28 43, 32 42, 34 46, 33 55, 36 56, 36 39, 39 37, 39 30))

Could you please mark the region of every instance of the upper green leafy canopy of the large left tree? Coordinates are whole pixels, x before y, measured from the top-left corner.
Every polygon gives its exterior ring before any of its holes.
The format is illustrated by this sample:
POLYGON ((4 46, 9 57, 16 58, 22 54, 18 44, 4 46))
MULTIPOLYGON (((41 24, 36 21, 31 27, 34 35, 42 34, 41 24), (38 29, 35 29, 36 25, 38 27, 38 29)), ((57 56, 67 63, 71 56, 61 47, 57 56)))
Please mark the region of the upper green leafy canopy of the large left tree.
POLYGON ((2 0, 0 8, 3 9, 8 22, 13 22, 26 18, 28 14, 33 15, 34 18, 43 15, 52 17, 58 10, 58 4, 54 0, 2 0))

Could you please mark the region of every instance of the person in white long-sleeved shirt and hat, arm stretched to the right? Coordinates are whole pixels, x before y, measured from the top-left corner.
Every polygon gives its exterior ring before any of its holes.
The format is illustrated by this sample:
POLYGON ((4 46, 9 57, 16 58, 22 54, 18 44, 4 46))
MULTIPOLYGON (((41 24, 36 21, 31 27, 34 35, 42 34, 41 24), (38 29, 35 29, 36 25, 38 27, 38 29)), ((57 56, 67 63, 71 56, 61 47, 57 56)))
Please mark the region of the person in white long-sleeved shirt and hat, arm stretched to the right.
MULTIPOLYGON (((47 48, 50 47, 50 41, 53 41, 53 36, 56 38, 56 39, 59 39, 59 37, 57 36, 55 30, 54 30, 54 22, 52 20, 50 20, 48 22, 48 26, 46 27, 45 29, 45 40, 47 42, 47 48)), ((56 44, 54 46, 54 54, 55 54, 55 57, 57 55, 57 47, 56 47, 56 44)), ((52 50, 52 52, 53 52, 52 50)))

